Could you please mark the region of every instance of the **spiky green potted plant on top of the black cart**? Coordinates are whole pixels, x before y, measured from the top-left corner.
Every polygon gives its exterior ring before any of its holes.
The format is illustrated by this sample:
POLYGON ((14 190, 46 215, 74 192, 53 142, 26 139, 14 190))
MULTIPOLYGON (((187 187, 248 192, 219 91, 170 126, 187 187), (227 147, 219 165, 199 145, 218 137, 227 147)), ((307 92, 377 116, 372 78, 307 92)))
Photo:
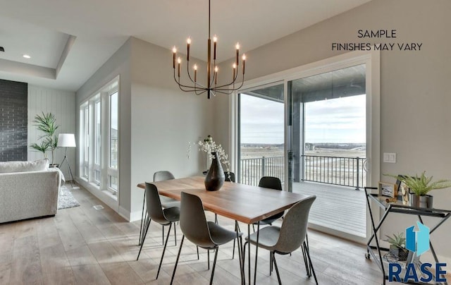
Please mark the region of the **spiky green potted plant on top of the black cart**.
POLYGON ((428 195, 428 192, 434 189, 451 187, 451 180, 440 179, 432 182, 433 176, 426 176, 426 171, 423 171, 420 176, 417 174, 415 176, 384 175, 397 178, 409 188, 409 205, 411 207, 432 208, 433 197, 428 195))

